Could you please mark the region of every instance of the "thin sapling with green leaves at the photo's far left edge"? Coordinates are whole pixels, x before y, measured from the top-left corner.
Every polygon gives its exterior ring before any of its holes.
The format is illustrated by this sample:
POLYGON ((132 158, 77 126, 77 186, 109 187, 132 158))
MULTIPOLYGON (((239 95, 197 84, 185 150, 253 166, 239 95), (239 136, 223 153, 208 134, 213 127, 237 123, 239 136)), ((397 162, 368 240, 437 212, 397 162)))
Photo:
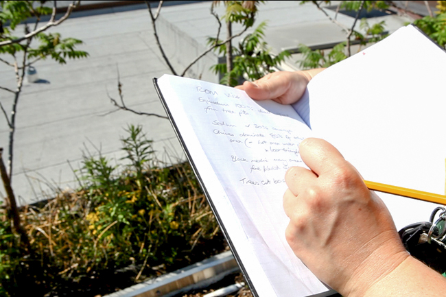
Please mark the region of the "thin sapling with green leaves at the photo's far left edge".
MULTIPOLYGON (((45 7, 47 1, 0 1, 0 63, 11 69, 16 78, 16 88, 0 86, 1 91, 11 94, 12 104, 10 112, 7 112, 0 101, 0 109, 3 112, 5 121, 9 130, 8 141, 8 170, 1 170, 2 180, 5 182, 5 189, 8 203, 8 216, 14 219, 14 228, 16 232, 21 233, 22 242, 27 246, 28 253, 31 252, 29 240, 21 226, 21 219, 16 208, 14 191, 12 190, 12 171, 14 161, 14 136, 16 132, 16 115, 19 112, 19 99, 25 78, 25 71, 32 69, 32 65, 38 60, 51 58, 60 64, 65 64, 67 58, 86 58, 88 54, 85 51, 75 49, 77 45, 82 44, 81 40, 75 38, 62 39, 58 33, 45 33, 50 27, 60 25, 66 20, 73 9, 80 1, 73 1, 68 5, 67 12, 60 19, 56 20, 56 2, 53 8, 45 7), (46 25, 40 26, 42 16, 51 14, 46 25), (33 18, 32 21, 30 18, 33 18), (15 30, 19 24, 23 23, 24 34, 17 37, 15 30), (31 25, 29 24, 31 23, 31 25), (36 46, 36 42, 38 45, 36 46), (6 57, 3 57, 6 56, 6 57), (8 185, 6 185, 8 184, 8 185)), ((0 150, 3 150, 0 147, 0 150)), ((1 160, 3 168, 3 160, 1 160)))

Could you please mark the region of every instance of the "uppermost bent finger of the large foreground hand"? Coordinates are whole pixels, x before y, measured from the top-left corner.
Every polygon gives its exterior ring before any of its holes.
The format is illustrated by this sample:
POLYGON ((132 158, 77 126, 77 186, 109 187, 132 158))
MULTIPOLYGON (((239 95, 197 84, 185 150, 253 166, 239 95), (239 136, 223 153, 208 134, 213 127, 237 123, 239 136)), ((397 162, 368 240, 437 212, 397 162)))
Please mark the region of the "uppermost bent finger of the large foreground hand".
POLYGON ((342 154, 323 139, 307 138, 299 145, 302 161, 317 176, 333 170, 351 167, 342 154))

